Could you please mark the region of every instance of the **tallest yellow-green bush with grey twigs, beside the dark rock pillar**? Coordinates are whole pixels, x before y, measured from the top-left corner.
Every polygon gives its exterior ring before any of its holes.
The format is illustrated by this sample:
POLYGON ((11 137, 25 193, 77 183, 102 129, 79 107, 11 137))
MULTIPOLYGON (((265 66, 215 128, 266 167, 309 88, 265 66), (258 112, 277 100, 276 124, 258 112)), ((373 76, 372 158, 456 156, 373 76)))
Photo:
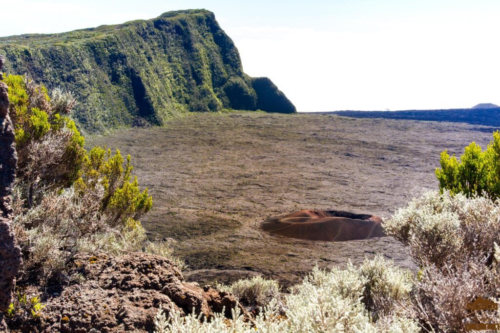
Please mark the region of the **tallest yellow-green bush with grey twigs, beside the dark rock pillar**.
POLYGON ((76 100, 69 92, 48 90, 23 75, 5 75, 18 157, 17 183, 24 188, 29 206, 35 188, 60 189, 78 175, 85 143, 69 118, 76 100))

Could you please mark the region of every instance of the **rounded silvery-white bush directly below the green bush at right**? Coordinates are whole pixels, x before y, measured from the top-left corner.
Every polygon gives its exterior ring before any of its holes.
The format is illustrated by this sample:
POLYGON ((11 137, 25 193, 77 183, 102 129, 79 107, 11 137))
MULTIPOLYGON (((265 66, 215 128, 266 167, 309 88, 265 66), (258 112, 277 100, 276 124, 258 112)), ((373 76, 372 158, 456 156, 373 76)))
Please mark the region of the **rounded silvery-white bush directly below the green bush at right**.
POLYGON ((492 254, 500 240, 500 205, 488 197, 429 191, 384 221, 385 231, 409 245, 420 266, 492 254))

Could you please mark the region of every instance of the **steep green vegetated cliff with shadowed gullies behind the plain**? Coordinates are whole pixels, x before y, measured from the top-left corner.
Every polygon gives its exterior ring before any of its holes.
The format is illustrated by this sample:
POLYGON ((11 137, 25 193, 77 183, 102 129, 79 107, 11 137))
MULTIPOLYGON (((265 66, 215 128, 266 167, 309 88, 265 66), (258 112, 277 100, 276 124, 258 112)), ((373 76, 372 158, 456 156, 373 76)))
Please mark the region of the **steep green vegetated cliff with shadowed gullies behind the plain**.
POLYGON ((149 20, 56 34, 0 38, 5 72, 72 90, 73 117, 89 131, 161 124, 186 111, 222 108, 295 112, 264 77, 241 66, 212 12, 166 12, 149 20))

